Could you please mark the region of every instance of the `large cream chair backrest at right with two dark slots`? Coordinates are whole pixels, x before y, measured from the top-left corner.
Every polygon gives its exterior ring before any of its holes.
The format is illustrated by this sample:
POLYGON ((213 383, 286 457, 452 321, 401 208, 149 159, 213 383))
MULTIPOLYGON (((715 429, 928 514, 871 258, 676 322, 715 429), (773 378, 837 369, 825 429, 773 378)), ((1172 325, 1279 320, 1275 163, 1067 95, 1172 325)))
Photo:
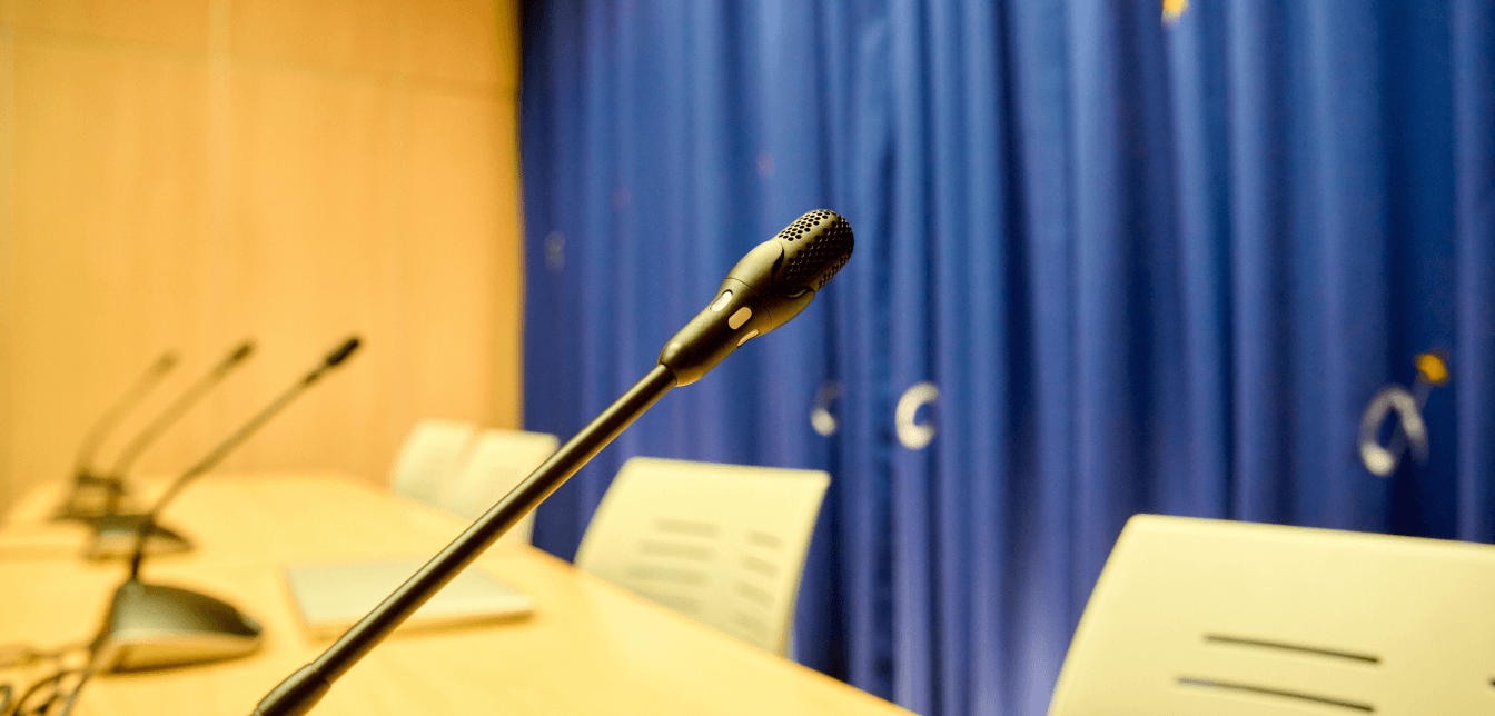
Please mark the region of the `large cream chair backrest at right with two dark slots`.
POLYGON ((1048 713, 1495 713, 1495 547, 1133 517, 1048 713))

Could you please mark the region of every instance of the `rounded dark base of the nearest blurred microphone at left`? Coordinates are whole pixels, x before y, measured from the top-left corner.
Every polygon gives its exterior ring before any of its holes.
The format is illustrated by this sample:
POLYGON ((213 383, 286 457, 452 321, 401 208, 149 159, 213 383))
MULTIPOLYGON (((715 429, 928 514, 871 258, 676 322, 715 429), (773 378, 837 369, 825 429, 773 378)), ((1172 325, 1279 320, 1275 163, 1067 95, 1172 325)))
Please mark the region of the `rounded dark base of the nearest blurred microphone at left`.
POLYGON ((232 604, 188 589, 129 580, 90 650, 100 671, 141 671, 254 653, 263 629, 232 604))

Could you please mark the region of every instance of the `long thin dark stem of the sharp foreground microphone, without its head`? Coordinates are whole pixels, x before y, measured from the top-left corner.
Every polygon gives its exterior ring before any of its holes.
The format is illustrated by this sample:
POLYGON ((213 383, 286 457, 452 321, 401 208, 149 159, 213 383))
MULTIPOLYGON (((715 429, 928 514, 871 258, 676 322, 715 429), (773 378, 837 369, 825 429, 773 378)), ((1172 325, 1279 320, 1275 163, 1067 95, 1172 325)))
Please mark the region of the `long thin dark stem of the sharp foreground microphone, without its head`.
POLYGON ((629 423, 676 386, 665 366, 655 366, 582 432, 561 445, 544 463, 489 508, 462 535, 426 562, 410 580, 353 625, 321 656, 272 689, 254 709, 256 716, 303 715, 321 700, 348 668, 378 646, 422 604, 437 593, 478 555, 561 487, 582 465, 607 447, 629 423))

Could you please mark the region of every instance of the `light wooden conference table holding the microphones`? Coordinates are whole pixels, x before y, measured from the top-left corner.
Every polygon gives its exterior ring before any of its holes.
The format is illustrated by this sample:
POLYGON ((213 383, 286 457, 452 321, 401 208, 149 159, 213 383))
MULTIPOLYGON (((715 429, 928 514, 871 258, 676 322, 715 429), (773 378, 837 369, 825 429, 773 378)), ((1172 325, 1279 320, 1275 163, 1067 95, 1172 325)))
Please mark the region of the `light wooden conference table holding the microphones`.
MULTIPOLYGON (((30 492, 0 523, 0 647, 90 640, 127 573, 120 562, 81 559, 88 538, 82 526, 46 520, 61 489, 30 492)), ((265 626, 265 643, 239 659, 96 676, 75 715, 248 715, 332 641, 299 622, 284 565, 425 559, 466 526, 383 486, 332 472, 208 475, 161 523, 187 534, 196 549, 148 559, 142 578, 229 601, 265 626)), ((474 568, 531 595, 534 613, 398 631, 312 713, 909 713, 526 544, 505 538, 474 568)), ((0 670, 0 682, 24 686, 40 673, 0 670)))

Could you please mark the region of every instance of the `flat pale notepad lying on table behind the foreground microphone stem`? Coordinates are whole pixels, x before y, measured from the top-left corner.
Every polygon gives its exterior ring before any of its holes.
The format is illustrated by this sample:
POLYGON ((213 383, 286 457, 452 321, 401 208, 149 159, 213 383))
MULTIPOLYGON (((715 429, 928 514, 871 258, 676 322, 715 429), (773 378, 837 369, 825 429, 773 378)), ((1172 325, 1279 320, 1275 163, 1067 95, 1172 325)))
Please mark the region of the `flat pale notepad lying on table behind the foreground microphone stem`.
MULTIPOLYGON (((336 637, 405 583, 423 561, 347 562, 286 567, 286 584, 306 629, 336 637)), ((401 626, 425 629, 516 619, 534 611, 529 595, 514 592, 477 567, 468 567, 401 626)))

